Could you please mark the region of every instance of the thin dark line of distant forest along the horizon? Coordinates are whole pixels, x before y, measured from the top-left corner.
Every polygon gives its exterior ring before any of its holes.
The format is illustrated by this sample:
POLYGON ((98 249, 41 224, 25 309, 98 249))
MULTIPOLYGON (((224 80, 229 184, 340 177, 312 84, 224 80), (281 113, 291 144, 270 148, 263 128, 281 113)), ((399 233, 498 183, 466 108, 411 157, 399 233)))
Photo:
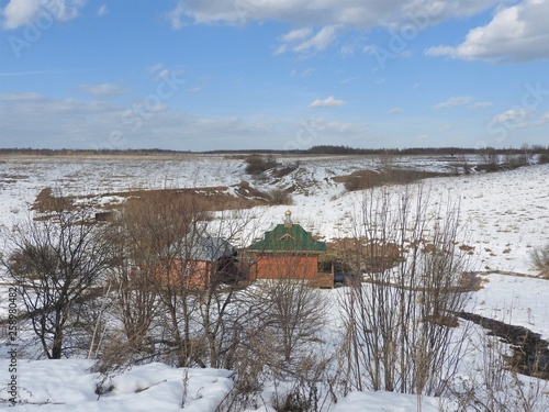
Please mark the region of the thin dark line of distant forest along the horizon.
POLYGON ((78 156, 78 155, 187 155, 187 154, 250 154, 250 153, 269 153, 269 154, 302 154, 302 155, 508 155, 508 154, 549 154, 549 146, 542 145, 524 145, 515 148, 467 148, 467 147, 412 147, 412 148, 356 148, 349 146, 320 145, 312 146, 309 149, 302 151, 277 151, 277 149, 238 149, 238 151, 209 151, 209 152, 190 152, 190 151, 168 151, 159 148, 141 148, 141 149, 51 149, 51 148, 0 148, 1 155, 38 155, 38 156, 78 156))

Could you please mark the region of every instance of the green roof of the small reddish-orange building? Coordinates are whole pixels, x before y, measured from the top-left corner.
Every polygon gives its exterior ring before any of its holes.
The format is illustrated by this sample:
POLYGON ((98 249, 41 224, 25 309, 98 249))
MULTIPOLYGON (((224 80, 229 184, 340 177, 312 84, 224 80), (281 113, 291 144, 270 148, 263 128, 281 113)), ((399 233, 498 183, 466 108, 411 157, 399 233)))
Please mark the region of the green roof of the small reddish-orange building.
POLYGON ((265 232, 261 241, 248 247, 253 252, 267 253, 325 253, 326 244, 315 241, 313 235, 299 224, 278 224, 272 231, 265 232))

